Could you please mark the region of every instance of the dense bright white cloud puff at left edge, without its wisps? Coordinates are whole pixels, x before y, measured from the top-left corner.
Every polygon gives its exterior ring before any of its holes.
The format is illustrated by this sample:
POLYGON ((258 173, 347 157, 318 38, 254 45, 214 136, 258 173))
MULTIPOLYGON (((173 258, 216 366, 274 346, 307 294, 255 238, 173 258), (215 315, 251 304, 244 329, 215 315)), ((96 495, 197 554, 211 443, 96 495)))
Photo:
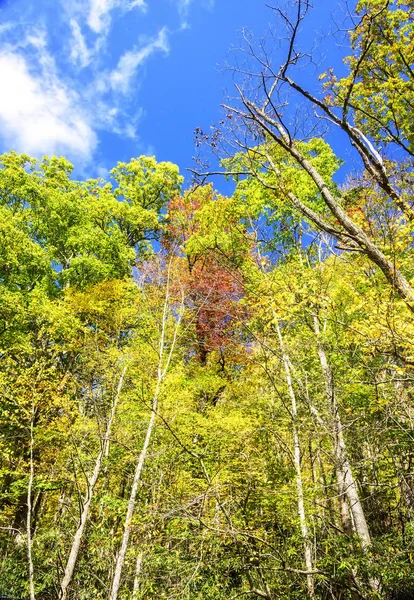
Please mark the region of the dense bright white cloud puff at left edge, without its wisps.
POLYGON ((22 56, 3 51, 0 72, 1 135, 9 148, 36 156, 91 155, 96 135, 77 97, 53 70, 42 69, 40 75, 33 75, 22 56))

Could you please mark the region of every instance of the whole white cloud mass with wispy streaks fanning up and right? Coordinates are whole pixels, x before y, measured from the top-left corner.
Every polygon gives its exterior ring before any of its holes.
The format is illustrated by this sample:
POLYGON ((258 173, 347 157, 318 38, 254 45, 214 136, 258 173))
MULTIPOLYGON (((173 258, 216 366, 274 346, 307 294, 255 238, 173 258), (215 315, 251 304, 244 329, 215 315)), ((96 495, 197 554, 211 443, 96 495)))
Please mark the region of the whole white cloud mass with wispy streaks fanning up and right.
POLYGON ((155 52, 168 53, 168 31, 161 28, 147 44, 125 52, 117 67, 103 76, 95 61, 99 40, 88 48, 75 19, 69 26, 71 61, 86 71, 85 85, 76 73, 60 75, 48 51, 46 30, 39 26, 14 44, 0 47, 0 137, 4 145, 35 156, 63 153, 88 161, 98 142, 99 130, 137 139, 143 115, 140 106, 129 112, 123 98, 140 66, 155 52), (90 68, 89 68, 90 67, 90 68))

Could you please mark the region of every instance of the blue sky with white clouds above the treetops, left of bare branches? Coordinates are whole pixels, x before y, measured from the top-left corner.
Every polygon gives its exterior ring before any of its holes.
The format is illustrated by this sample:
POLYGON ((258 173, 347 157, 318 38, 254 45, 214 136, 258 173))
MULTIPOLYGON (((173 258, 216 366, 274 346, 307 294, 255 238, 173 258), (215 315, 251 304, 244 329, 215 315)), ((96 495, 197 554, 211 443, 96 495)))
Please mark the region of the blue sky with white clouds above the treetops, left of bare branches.
MULTIPOLYGON (((322 5, 309 42, 329 21, 322 5)), ((0 150, 62 154, 87 176, 140 154, 191 166, 195 127, 218 121, 232 87, 238 32, 260 38, 273 18, 262 0, 0 0, 0 12, 0 150)))

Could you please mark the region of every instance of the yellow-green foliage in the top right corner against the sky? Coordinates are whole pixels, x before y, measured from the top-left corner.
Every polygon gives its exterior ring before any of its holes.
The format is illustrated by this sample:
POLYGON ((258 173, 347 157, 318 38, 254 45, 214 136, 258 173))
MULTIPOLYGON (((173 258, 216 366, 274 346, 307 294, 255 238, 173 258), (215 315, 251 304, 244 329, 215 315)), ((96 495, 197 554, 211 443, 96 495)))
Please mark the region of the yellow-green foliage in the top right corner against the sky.
POLYGON ((332 78, 332 102, 347 105, 358 126, 381 144, 414 150, 410 118, 413 92, 413 5, 411 0, 361 0, 351 32, 349 75, 332 78))

